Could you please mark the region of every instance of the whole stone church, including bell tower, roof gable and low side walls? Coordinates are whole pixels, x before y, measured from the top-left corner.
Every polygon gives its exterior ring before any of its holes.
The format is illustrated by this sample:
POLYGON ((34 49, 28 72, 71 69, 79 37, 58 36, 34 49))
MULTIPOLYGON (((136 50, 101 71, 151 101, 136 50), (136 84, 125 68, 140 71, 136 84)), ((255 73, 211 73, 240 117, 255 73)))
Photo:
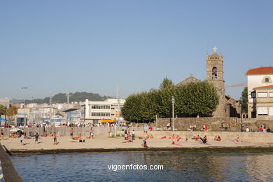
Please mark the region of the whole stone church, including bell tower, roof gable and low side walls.
MULTIPOLYGON (((229 118, 239 117, 241 108, 239 102, 225 95, 225 80, 223 71, 223 55, 218 55, 214 47, 212 55, 207 55, 207 80, 214 84, 219 96, 219 104, 212 114, 213 117, 229 118)), ((190 76, 177 85, 186 85, 191 82, 198 82, 197 78, 190 76)))

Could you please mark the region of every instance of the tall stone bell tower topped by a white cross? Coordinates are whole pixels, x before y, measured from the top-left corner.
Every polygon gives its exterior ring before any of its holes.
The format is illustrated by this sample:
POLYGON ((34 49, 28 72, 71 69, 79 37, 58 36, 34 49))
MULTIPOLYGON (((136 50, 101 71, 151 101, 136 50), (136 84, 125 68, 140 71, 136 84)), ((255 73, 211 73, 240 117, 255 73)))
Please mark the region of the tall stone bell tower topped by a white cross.
POLYGON ((219 96, 219 105, 214 117, 225 117, 225 81, 223 71, 223 55, 218 55, 214 46, 212 55, 207 55, 207 80, 214 84, 219 96))

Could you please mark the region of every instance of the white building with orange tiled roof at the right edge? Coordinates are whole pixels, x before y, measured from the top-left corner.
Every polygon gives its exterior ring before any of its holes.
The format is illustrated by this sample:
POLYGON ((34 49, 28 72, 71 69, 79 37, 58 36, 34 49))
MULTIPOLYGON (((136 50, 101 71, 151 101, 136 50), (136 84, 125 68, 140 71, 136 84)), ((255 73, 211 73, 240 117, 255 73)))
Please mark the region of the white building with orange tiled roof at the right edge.
POLYGON ((249 69, 246 76, 248 118, 273 120, 273 67, 249 69))

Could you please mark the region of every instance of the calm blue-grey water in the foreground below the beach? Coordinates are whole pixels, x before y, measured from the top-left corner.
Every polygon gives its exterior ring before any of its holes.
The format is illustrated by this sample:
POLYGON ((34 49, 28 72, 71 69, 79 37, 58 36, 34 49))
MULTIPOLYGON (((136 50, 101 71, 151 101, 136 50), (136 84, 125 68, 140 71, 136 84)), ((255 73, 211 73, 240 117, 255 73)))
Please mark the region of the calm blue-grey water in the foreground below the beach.
POLYGON ((99 153, 11 157, 24 181, 273 181, 272 153, 99 153), (107 165, 163 165, 109 170, 107 165))

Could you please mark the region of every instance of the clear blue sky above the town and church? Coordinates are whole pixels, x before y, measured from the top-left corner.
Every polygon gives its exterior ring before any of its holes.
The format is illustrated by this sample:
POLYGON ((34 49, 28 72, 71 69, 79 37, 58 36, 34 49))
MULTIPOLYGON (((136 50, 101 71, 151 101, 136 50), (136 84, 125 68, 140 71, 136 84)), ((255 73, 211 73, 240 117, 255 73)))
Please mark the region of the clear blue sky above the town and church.
MULTIPOLYGON (((167 77, 206 78, 224 57, 225 85, 272 66, 273 1, 0 1, 0 97, 59 92, 119 97, 167 77), (27 87, 23 90, 22 87, 27 87)), ((243 87, 228 87, 239 99, 243 87)))

